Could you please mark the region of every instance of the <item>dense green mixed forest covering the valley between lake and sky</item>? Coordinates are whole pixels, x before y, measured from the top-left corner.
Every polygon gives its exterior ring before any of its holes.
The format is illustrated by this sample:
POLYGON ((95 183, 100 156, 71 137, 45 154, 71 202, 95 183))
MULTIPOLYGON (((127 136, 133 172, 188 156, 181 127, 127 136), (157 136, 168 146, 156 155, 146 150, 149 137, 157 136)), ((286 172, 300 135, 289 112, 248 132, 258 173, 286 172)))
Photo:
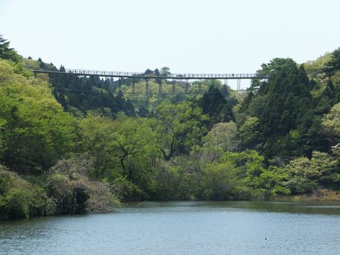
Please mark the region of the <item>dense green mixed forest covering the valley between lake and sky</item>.
POLYGON ((190 95, 30 69, 65 72, 0 36, 0 218, 131 200, 340 199, 340 48, 273 58, 246 91, 207 80, 190 95))

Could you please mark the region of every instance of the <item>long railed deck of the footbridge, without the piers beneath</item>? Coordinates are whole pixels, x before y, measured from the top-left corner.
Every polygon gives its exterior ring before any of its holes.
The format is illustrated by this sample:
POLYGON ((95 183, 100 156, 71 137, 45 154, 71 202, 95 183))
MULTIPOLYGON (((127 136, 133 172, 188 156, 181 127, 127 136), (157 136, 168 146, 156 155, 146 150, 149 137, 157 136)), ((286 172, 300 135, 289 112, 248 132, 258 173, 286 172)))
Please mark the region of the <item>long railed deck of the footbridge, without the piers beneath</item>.
POLYGON ((31 70, 35 74, 71 74, 77 76, 98 76, 98 77, 118 77, 118 78, 142 78, 142 79, 268 79, 268 76, 257 74, 169 74, 167 76, 157 76, 155 74, 145 74, 142 72, 111 72, 95 71, 83 69, 66 69, 66 72, 31 70))

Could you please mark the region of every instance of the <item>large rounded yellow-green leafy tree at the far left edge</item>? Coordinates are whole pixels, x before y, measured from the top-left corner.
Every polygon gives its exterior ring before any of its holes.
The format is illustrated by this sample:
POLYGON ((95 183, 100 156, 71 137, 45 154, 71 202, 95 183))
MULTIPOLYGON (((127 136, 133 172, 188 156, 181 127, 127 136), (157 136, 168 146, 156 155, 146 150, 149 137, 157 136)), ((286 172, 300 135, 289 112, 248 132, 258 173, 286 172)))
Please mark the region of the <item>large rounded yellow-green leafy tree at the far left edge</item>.
POLYGON ((16 171, 41 171, 74 147, 76 123, 45 81, 13 73, 0 60, 3 160, 16 171))

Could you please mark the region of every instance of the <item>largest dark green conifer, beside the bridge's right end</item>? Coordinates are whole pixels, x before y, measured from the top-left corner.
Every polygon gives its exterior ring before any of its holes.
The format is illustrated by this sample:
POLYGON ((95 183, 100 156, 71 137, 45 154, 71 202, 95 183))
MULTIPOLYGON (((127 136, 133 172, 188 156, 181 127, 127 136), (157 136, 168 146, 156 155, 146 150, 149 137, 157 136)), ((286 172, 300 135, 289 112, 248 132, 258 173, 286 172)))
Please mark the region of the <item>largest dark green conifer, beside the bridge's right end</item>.
MULTIPOLYGON (((297 68, 291 59, 275 59, 262 67, 259 73, 271 74, 271 78, 261 83, 256 96, 249 93, 242 111, 255 113, 254 117, 259 118, 263 152, 267 158, 310 154, 317 141, 322 140, 322 133, 318 119, 313 118, 312 86, 304 66, 297 68), (256 98, 261 97, 261 111, 252 111, 251 107, 258 103, 256 98)), ((324 146, 321 145, 323 149, 324 146)))

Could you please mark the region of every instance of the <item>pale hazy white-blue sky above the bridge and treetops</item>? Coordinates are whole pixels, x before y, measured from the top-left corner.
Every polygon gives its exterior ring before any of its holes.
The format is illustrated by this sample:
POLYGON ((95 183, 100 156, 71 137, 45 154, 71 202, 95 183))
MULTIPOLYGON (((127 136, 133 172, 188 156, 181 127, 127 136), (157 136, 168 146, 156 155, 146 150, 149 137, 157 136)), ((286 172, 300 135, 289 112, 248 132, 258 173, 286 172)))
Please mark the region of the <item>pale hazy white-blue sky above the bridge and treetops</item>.
POLYGON ((0 0, 0 33, 57 67, 255 72, 340 46, 339 0, 0 0))

